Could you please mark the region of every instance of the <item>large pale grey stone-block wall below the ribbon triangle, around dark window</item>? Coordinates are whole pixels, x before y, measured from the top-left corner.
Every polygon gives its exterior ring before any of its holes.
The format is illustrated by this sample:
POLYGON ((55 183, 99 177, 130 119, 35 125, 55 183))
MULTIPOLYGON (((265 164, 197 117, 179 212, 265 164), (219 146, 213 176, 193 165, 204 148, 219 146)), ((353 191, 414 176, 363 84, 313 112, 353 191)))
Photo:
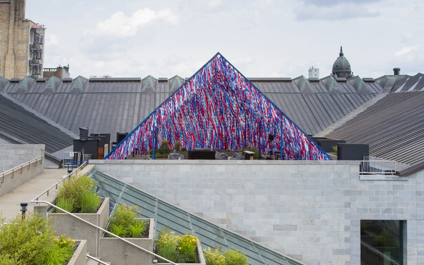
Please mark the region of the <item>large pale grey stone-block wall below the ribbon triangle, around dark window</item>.
POLYGON ((358 161, 90 160, 96 169, 309 265, 360 265, 360 220, 406 220, 424 262, 424 173, 360 180, 358 161))

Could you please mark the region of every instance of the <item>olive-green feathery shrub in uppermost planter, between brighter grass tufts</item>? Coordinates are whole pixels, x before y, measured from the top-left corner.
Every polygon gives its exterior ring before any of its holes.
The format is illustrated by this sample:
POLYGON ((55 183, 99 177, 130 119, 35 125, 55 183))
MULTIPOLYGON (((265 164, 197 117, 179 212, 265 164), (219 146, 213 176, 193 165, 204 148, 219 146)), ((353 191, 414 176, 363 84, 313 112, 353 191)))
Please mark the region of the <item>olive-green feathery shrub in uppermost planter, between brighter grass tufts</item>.
POLYGON ((62 185, 59 186, 57 199, 73 199, 74 210, 79 212, 81 210, 82 194, 93 190, 95 184, 96 182, 86 175, 72 175, 68 179, 64 180, 62 185))

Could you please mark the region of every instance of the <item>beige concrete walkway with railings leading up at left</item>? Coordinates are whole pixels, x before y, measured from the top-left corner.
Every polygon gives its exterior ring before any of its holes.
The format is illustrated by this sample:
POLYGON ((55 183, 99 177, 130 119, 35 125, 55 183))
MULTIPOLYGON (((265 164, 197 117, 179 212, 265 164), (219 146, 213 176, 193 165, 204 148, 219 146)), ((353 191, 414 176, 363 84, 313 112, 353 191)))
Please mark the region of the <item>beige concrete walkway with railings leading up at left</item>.
MULTIPOLYGON (((20 215, 20 203, 30 202, 36 196, 43 191, 47 190, 50 186, 59 181, 62 177, 67 175, 66 168, 50 169, 45 168, 44 173, 34 177, 33 179, 25 182, 19 187, 11 190, 9 193, 0 197, 0 213, 3 217, 6 217, 6 222, 10 221, 16 215, 20 215)), ((50 196, 54 196, 56 189, 52 188, 49 193, 50 196)), ((44 194, 40 197, 40 200, 46 198, 44 194)), ((34 206, 28 205, 28 211, 33 212, 34 206)))

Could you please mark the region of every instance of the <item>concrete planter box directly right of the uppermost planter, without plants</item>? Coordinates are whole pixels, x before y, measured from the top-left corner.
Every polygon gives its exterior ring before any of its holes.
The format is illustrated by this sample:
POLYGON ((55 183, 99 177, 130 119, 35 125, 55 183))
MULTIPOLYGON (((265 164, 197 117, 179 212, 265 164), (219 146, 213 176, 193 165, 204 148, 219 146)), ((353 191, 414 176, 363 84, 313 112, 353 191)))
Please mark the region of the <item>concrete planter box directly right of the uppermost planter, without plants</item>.
MULTIPOLYGON (((153 252, 154 219, 137 218, 150 221, 148 238, 125 238, 148 251, 153 252)), ((112 262, 113 265, 151 265, 153 257, 139 248, 114 237, 100 237, 100 253, 102 260, 112 262)))

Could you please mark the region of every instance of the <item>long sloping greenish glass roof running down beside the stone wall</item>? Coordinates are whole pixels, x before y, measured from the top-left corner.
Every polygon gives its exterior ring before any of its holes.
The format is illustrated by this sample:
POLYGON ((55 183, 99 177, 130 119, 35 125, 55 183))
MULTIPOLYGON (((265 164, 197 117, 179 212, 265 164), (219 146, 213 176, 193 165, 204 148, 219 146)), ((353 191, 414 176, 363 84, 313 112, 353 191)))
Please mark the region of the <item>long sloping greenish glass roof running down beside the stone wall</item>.
POLYGON ((140 217, 155 219, 155 234, 164 225, 181 235, 190 234, 194 230, 194 235, 201 241, 202 248, 220 246, 223 251, 236 248, 247 255, 250 265, 302 265, 290 257, 212 224, 119 179, 96 170, 89 176, 98 181, 97 192, 110 198, 109 215, 117 204, 138 205, 140 217))

